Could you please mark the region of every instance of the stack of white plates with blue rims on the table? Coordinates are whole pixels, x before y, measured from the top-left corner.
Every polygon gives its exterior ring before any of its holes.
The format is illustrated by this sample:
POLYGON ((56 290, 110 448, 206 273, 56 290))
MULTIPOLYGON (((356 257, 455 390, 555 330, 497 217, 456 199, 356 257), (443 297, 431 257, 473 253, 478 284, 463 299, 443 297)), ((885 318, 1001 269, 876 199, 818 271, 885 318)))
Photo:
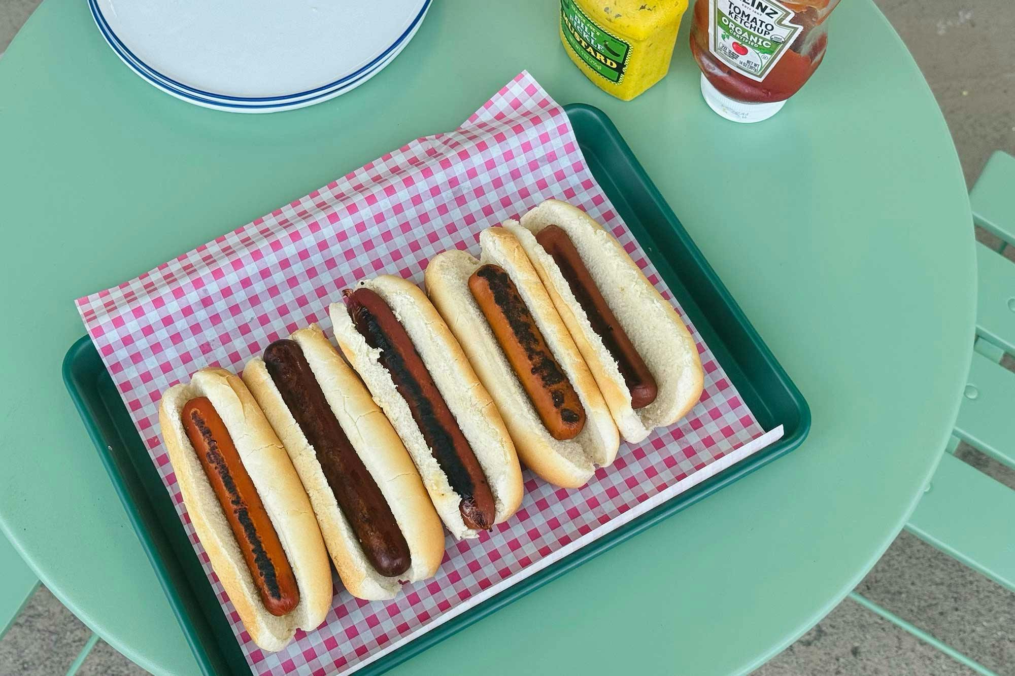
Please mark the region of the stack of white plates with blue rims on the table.
POLYGON ((405 48, 430 0, 88 0, 117 56, 186 102, 235 113, 312 106, 405 48))

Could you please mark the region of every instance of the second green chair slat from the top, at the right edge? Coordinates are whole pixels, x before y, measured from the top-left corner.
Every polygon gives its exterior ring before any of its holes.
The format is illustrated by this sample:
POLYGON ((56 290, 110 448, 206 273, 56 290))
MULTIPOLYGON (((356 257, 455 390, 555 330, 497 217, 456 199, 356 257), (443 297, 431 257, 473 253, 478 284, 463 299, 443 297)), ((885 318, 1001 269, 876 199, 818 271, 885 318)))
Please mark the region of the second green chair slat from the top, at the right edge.
POLYGON ((1015 353, 1015 263, 976 243, 976 333, 1015 353))

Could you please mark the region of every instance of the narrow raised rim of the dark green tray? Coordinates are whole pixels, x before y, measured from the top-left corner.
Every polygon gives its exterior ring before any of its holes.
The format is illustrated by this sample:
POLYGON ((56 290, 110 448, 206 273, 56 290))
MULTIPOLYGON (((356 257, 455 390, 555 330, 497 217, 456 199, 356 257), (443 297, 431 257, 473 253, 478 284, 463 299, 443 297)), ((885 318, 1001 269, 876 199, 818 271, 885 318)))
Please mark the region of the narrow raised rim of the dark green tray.
MULTIPOLYGON (((591 115, 594 118, 597 118, 598 122, 603 124, 606 130, 615 137, 615 140, 618 141, 620 151, 625 155, 625 158, 640 176, 650 195, 655 201, 663 205, 667 214, 672 216, 672 219, 680 226, 681 229, 683 229, 680 220, 675 214, 673 214, 672 209, 669 208, 666 200, 663 199, 655 184, 648 177, 636 157, 634 157, 629 146, 627 146, 626 142, 623 140, 623 136, 620 135, 610 118, 599 109, 587 104, 570 104, 564 106, 563 110, 568 115, 568 118, 571 117, 572 112, 580 115, 591 115)), ((625 540, 648 530, 659 522, 668 519, 669 517, 687 509, 692 504, 695 504, 704 497, 707 497, 714 492, 736 482, 740 478, 751 474, 761 467, 764 467, 768 463, 785 456, 803 444, 804 440, 810 432, 811 427, 811 412, 806 399, 790 378, 789 374, 787 374, 783 365, 777 359, 775 359, 774 354, 770 349, 768 349, 768 346, 761 339, 760 335, 754 329, 754 326, 744 315, 743 311, 740 309, 739 305, 737 305, 732 294, 730 294, 725 284, 723 284, 719 275, 715 270, 713 270, 700 250, 698 250, 696 245, 694 245, 690 235, 686 232, 686 230, 683 230, 683 233, 685 236, 682 239, 685 240, 684 244, 688 248, 688 253, 695 259, 704 275, 716 287, 717 292, 732 312, 734 319, 737 320, 747 333, 748 338, 750 338, 755 349, 757 349, 760 357, 772 369, 776 380, 786 388, 786 394, 792 404, 796 407, 799 414, 796 426, 789 426, 786 429, 785 435, 770 446, 739 461, 735 465, 720 471, 715 476, 701 481, 700 483, 666 500, 658 506, 653 508, 646 514, 634 518, 627 524, 606 533, 581 549, 567 554, 560 560, 555 561, 547 565, 542 570, 538 570, 535 573, 519 581, 517 584, 502 590, 495 596, 482 601, 476 606, 460 613, 438 626, 427 630, 426 633, 404 644, 391 653, 388 653, 376 661, 362 666, 357 669, 355 673, 375 676, 406 662, 431 646, 434 646, 445 638, 458 633, 462 629, 474 624, 484 617, 495 613, 500 608, 503 608, 518 599, 527 596, 567 571, 579 567, 586 561, 595 558, 625 540)), ((88 436, 94 444, 95 449, 98 452, 99 459, 101 460, 104 467, 106 467, 107 473, 110 475, 110 479, 114 484, 114 489, 120 497, 120 500, 124 505, 124 510, 127 513, 128 520, 131 522, 134 532, 152 564, 155 576, 165 593, 166 600, 170 602, 174 615, 180 622, 181 629, 184 632, 188 645, 194 653, 197 664, 200 666, 202 673, 204 674, 213 675, 216 673, 222 673, 213 670, 212 662, 221 662, 224 660, 224 657, 218 656, 216 659, 216 656, 208 654, 205 646, 205 639, 199 635, 199 631, 195 625, 196 623, 184 608, 184 602, 177 590, 177 587, 180 584, 187 585, 188 588, 190 588, 186 578, 182 581, 173 579, 165 561, 161 559, 158 553, 158 548, 154 542, 152 533, 149 532, 149 529, 151 528, 158 528, 158 523, 148 524, 145 522, 138 505, 134 502, 128 491, 124 473, 126 471, 134 474, 135 476, 131 478, 135 482, 138 481, 136 473, 132 467, 121 467, 117 463, 117 460, 113 457, 113 449, 110 446, 109 441, 101 436, 96 420, 91 414, 88 401, 86 400, 88 392, 86 392, 83 389, 83 386, 79 383, 81 374, 78 374, 77 369, 81 365, 82 360, 92 358, 92 356, 97 364, 97 368, 93 368, 93 370, 88 374, 88 377, 97 379, 100 378, 104 373, 107 377, 109 377, 95 346, 91 343, 90 337, 85 334, 70 346, 64 356, 61 369, 64 384, 67 387, 70 398, 74 402, 74 406, 77 409, 78 414, 81 416, 82 423, 88 432, 88 436)), ((97 380, 95 382, 97 383, 97 380)), ((92 387, 94 388, 94 386, 92 387)), ((122 404, 123 402, 121 401, 120 403, 122 404)), ((137 430, 133 427, 128 430, 128 432, 137 434, 137 430)), ((183 526, 180 525, 180 528, 182 529, 183 526)), ((164 537, 164 533, 162 536, 164 537)), ((191 550, 191 554, 196 558, 196 554, 193 553, 193 550, 191 550)), ((184 555, 186 556, 186 553, 184 555)), ((189 592, 192 594, 199 594, 200 590, 189 589, 189 592)), ((213 644, 213 647, 220 650, 220 647, 217 644, 213 644)))

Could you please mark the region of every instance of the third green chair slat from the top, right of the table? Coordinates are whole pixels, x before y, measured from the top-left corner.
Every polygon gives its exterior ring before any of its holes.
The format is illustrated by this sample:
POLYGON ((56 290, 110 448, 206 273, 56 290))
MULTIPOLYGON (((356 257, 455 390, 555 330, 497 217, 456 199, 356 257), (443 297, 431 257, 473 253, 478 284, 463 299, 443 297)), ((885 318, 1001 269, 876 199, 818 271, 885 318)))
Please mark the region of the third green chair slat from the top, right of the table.
POLYGON ((966 383, 955 435, 1015 468, 1015 374, 973 352, 966 383))

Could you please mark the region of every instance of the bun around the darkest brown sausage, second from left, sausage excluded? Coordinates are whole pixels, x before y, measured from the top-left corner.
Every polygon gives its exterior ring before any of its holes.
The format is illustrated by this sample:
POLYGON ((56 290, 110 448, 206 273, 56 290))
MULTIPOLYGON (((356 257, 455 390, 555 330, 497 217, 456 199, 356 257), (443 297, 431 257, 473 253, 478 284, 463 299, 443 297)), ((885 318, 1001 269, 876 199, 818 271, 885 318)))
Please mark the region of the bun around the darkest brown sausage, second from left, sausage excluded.
POLYGON ((264 359, 258 356, 247 363, 244 382, 282 440, 303 482, 331 560, 345 589, 357 598, 370 601, 393 598, 401 588, 399 579, 416 582, 437 571, 445 548, 441 520, 402 441, 321 329, 312 324, 289 338, 302 350, 328 405, 384 494, 409 545, 412 563, 403 576, 387 578, 370 565, 328 484, 317 452, 285 405, 264 359))

